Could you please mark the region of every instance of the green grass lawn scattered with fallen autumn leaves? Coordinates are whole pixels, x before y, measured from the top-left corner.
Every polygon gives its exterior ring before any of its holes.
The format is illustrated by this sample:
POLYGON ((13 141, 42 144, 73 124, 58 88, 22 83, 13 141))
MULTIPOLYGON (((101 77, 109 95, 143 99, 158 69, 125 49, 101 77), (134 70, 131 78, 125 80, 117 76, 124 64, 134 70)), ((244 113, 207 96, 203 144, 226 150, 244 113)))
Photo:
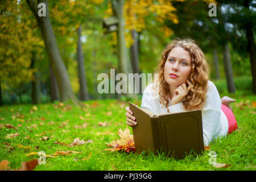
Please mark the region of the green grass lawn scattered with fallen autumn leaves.
MULTIPOLYGON (((234 96, 233 96, 234 97, 234 96)), ((255 95, 235 96, 237 103, 247 102, 247 106, 236 107, 232 104, 236 116, 238 131, 225 138, 214 140, 210 143, 210 150, 206 150, 200 156, 186 156, 182 160, 166 158, 164 155, 154 156, 152 154, 126 154, 125 152, 101 151, 106 146, 105 142, 111 142, 118 137, 119 128, 126 128, 125 106, 127 102, 117 100, 87 101, 87 111, 79 106, 71 106, 71 110, 63 110, 63 107, 55 108, 53 104, 36 105, 37 111, 30 113, 33 105, 12 105, 0 107, 0 123, 11 125, 18 128, 0 129, 0 162, 9 160, 9 166, 12 169, 21 167, 22 162, 38 159, 39 156, 26 156, 30 152, 44 151, 46 154, 53 154, 56 151, 82 151, 80 154, 64 155, 57 158, 46 158, 46 164, 38 165, 35 170, 255 170, 255 121, 253 114, 255 108, 251 106, 252 101, 256 101, 255 95), (97 106, 95 106, 97 102, 97 106), (62 109, 61 109, 62 108, 62 109), (12 111, 13 110, 13 111, 12 111), (112 115, 107 114, 112 111, 112 115), (86 114, 89 113, 89 116, 86 114), (23 114, 24 118, 15 118, 13 116, 23 114), (81 120, 79 116, 84 117, 81 120), (42 121, 40 117, 46 118, 42 121), (23 119, 23 120, 20 120, 23 119), (68 121, 67 121, 68 119, 68 121), (98 126, 98 122, 109 122, 110 126, 98 126), (39 123, 43 122, 43 125, 39 123), (53 122, 52 125, 49 125, 53 122), (67 125, 63 126, 63 122, 67 125), (74 125, 82 126, 82 123, 89 123, 86 129, 75 129, 74 125), (18 127, 18 124, 22 126, 18 127), (37 128, 31 127, 36 124, 37 128), (63 127, 60 127, 63 126, 63 127), (62 130, 67 130, 65 133, 62 130), (115 135, 97 135, 97 132, 110 131, 115 135), (19 136, 13 139, 7 139, 7 134, 19 133, 19 136), (43 136, 36 137, 35 134, 42 134, 51 137, 49 140, 40 140, 43 136), (31 139, 25 139, 28 135, 31 139), (63 143, 72 143, 73 139, 79 137, 80 140, 92 139, 93 143, 87 143, 81 146, 68 147, 55 144, 57 140, 63 143), (13 150, 6 147, 9 143, 13 150), (30 146, 31 150, 19 148, 17 144, 30 146), (38 149, 37 149, 37 148, 38 149), (217 153, 217 163, 232 164, 228 168, 215 168, 209 164, 209 151, 217 153), (88 160, 82 160, 90 154, 88 160), (77 160, 75 160, 77 158, 77 160)), ((140 102, 137 102, 141 105, 140 102)), ((130 128, 130 127, 129 127, 130 128)), ((130 128, 131 129, 131 128, 130 128)))

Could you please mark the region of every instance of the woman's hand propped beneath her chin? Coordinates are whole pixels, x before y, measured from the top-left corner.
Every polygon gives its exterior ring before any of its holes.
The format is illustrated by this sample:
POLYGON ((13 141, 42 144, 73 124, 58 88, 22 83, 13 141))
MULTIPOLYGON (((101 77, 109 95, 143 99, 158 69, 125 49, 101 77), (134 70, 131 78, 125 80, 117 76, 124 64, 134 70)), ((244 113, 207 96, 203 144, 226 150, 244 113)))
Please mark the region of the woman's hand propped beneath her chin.
POLYGON ((189 90, 192 88, 192 84, 187 80, 188 87, 185 83, 181 84, 174 91, 174 96, 172 96, 171 104, 175 105, 181 102, 188 94, 189 90))

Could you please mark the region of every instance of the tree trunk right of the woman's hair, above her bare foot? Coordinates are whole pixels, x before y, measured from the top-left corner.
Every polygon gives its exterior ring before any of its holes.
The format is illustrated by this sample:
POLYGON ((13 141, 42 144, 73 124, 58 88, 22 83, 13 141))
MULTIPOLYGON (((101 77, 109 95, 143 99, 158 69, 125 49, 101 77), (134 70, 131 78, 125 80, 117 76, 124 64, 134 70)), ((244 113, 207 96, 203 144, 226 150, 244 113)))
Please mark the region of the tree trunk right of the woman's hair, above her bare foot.
POLYGON ((232 71, 232 64, 230 60, 228 43, 226 43, 224 47, 223 60, 224 60, 224 68, 225 68, 225 74, 226 74, 226 83, 228 85, 228 91, 229 93, 235 93, 236 88, 233 80, 233 71, 232 71))

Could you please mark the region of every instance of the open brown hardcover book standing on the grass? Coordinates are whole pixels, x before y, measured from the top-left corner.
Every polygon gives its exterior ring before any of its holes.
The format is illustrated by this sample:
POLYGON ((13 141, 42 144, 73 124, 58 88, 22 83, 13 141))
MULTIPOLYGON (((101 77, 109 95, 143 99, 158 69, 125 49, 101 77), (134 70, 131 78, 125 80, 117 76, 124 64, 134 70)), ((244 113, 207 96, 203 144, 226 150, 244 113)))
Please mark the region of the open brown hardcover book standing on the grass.
POLYGON ((138 152, 164 152, 182 159, 185 155, 204 151, 201 110, 181 113, 153 114, 129 102, 137 125, 133 126, 135 148, 138 152))

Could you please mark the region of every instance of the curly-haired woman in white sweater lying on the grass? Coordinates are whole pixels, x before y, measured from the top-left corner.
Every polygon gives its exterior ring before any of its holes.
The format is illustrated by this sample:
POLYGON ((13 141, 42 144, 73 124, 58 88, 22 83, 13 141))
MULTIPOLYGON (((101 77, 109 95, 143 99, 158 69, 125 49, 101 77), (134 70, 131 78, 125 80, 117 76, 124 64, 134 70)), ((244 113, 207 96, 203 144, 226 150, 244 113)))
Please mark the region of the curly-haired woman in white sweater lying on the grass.
MULTIPOLYGON (((220 98, 216 86, 209 81, 204 53, 193 40, 175 39, 168 44, 162 53, 158 73, 159 80, 143 92, 143 109, 154 114, 201 109, 204 146, 237 129, 229 105, 236 100, 227 96, 220 98)), ((127 125, 137 125, 129 107, 125 109, 127 125)))

